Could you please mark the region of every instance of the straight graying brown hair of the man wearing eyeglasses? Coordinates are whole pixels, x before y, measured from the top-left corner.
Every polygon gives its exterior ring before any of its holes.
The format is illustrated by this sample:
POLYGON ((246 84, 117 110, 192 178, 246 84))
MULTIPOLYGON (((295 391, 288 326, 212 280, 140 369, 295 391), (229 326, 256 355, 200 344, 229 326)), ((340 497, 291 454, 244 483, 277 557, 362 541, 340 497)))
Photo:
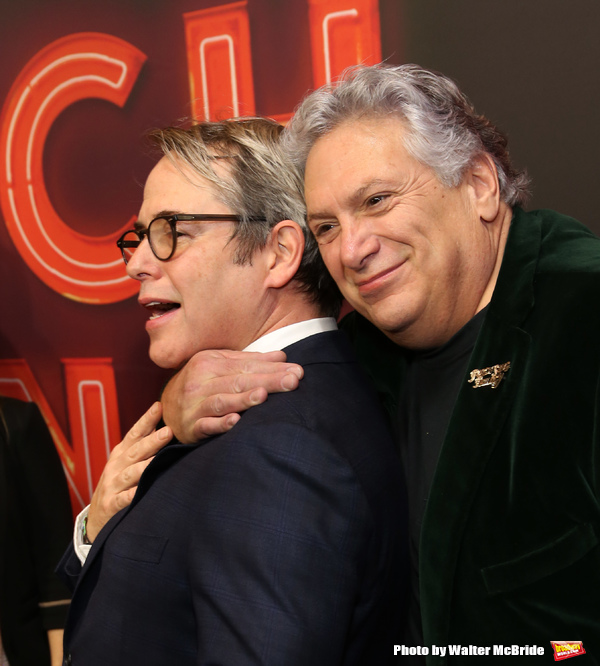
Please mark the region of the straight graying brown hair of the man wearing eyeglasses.
POLYGON ((337 316, 342 297, 306 226, 302 177, 282 150, 282 130, 267 118, 237 118, 152 130, 148 137, 176 166, 182 160, 212 183, 215 196, 243 218, 233 234, 237 263, 251 263, 281 220, 297 222, 305 247, 294 280, 323 314, 337 316), (228 168, 215 169, 218 163, 228 168))

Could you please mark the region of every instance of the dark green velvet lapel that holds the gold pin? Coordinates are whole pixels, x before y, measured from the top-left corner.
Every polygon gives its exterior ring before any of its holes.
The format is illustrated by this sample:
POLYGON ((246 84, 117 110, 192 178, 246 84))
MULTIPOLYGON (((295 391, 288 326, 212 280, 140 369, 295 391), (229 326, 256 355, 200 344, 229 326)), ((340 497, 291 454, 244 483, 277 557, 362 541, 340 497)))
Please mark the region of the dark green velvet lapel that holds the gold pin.
MULTIPOLYGON (((519 326, 533 306, 540 251, 537 217, 516 209, 498 282, 437 464, 420 544, 420 588, 426 645, 447 645, 453 585, 464 528, 486 464, 511 410, 529 353, 519 326), (510 361, 500 385, 473 388, 469 373, 510 361)), ((430 658, 428 663, 437 660, 430 658)))

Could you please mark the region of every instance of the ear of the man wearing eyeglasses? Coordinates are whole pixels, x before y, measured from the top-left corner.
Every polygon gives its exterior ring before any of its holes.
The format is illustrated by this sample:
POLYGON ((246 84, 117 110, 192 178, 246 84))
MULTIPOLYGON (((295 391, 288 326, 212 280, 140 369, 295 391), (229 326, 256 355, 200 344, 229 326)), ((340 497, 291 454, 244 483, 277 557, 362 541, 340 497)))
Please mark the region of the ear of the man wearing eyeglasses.
POLYGON ((304 234, 297 222, 282 220, 269 235, 265 247, 268 273, 265 286, 285 287, 296 275, 304 254, 304 234))

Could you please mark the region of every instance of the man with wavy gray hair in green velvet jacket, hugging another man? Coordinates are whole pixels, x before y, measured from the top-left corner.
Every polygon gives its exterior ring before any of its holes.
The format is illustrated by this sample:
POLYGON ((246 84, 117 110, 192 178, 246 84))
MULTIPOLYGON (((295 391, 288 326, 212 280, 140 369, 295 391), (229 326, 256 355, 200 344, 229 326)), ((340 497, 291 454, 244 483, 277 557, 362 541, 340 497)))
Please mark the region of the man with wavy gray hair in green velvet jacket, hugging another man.
MULTIPOLYGON (((600 663, 600 241, 525 212, 505 137, 416 65, 349 70, 308 95, 285 141, 404 463, 399 654, 549 661, 570 637, 600 663)), ((168 387, 167 416, 185 396, 182 437, 282 390, 270 363, 235 363, 197 355, 168 387)))

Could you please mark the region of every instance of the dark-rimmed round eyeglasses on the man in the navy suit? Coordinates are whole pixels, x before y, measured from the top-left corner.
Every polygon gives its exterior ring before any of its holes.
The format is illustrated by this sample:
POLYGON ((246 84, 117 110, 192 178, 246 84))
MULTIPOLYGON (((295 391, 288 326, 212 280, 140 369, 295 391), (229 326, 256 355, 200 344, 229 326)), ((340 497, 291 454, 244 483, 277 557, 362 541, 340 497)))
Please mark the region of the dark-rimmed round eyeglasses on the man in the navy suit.
POLYGON ((160 261, 167 261, 177 249, 177 222, 242 222, 244 219, 249 222, 266 222, 264 217, 244 218, 241 215, 199 214, 155 217, 146 229, 126 231, 117 241, 117 247, 121 250, 123 261, 128 263, 140 243, 147 237, 154 256, 160 261))

